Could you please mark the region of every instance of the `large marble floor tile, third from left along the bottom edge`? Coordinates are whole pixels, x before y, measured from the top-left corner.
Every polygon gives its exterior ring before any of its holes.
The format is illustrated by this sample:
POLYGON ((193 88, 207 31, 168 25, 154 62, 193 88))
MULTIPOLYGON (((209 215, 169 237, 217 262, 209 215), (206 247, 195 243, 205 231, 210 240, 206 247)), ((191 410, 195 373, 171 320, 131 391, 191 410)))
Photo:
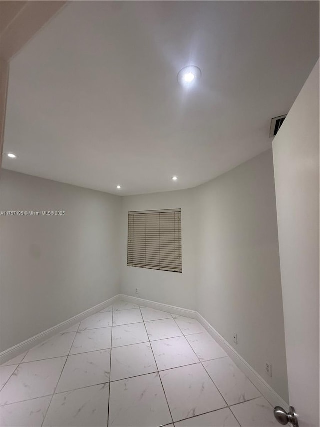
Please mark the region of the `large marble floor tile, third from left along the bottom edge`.
POLYGON ((111 427, 158 427, 172 422, 158 373, 111 382, 111 427))

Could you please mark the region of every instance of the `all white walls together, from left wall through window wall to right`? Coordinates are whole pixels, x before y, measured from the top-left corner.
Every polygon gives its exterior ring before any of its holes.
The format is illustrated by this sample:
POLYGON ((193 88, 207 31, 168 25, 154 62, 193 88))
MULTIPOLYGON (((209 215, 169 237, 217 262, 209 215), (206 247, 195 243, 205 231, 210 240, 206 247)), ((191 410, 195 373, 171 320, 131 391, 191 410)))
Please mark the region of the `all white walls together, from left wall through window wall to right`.
POLYGON ((118 197, 2 171, 1 349, 119 290, 195 309, 288 400, 271 150, 193 189, 118 197), (127 213, 181 208, 182 273, 128 267, 127 213), (27 321, 26 321, 27 320, 27 321), (273 377, 265 372, 272 363, 273 377))

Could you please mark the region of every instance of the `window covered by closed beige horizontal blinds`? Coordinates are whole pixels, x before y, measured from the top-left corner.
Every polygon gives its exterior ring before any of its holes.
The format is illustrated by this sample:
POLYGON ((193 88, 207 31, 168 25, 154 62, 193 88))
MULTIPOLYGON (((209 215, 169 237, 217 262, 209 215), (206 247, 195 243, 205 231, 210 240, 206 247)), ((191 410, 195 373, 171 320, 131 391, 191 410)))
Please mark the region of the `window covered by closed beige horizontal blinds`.
POLYGON ((127 263, 182 273, 181 209, 129 212, 127 263))

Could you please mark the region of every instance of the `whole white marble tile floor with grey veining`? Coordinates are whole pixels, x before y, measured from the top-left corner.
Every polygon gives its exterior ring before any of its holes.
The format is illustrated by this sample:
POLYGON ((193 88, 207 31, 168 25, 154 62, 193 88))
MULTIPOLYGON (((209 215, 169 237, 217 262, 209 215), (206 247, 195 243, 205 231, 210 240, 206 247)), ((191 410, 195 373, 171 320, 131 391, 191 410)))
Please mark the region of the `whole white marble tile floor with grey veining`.
POLYGON ((0 366, 1 427, 270 427, 194 319, 117 301, 0 366))

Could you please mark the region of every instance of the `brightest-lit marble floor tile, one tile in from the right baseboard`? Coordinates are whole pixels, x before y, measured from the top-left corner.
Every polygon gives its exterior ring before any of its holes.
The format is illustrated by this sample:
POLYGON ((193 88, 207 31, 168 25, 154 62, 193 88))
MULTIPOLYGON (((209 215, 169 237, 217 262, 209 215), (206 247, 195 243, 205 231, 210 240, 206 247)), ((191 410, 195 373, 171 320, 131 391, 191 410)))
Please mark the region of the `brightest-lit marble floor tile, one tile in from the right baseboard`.
POLYGON ((151 341, 159 370, 199 363, 199 359, 184 336, 151 341))

